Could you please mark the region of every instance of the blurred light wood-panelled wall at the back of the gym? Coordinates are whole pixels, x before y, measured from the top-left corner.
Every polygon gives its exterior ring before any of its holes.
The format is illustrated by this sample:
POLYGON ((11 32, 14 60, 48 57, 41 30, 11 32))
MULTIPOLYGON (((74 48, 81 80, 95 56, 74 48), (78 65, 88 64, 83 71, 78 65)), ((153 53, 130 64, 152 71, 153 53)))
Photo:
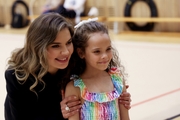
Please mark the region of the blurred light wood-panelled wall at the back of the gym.
MULTIPOLYGON (((10 24, 12 20, 12 6, 15 0, 0 0, 0 23, 1 24, 10 24)), ((22 0, 30 8, 30 12, 33 12, 34 15, 39 15, 42 12, 42 7, 45 5, 46 0, 22 0), (33 4, 33 5, 31 5, 33 4)), ((86 0, 85 3, 85 13, 87 14, 91 7, 96 7, 99 10, 99 16, 105 17, 124 17, 125 6, 131 0, 86 0)), ((138 1, 135 2, 131 8, 132 17, 150 17, 151 11, 147 2, 152 0, 132 0, 138 1), (147 1, 147 2, 144 2, 147 1)), ((172 18, 180 17, 180 1, 179 0, 153 0, 157 8, 158 17, 172 18)), ((128 3, 128 4, 130 4, 128 3)), ((151 4, 151 3, 150 3, 151 4)), ((17 9, 21 11, 21 14, 24 16, 27 15, 25 7, 21 4, 17 5, 17 9)), ((109 27, 113 27, 113 23, 109 23, 109 27)), ((139 23, 143 24, 143 23, 139 23)), ((153 30, 154 31, 171 31, 179 32, 180 31, 180 22, 179 23, 156 23, 153 30)), ((128 29, 125 25, 123 29, 128 29)))

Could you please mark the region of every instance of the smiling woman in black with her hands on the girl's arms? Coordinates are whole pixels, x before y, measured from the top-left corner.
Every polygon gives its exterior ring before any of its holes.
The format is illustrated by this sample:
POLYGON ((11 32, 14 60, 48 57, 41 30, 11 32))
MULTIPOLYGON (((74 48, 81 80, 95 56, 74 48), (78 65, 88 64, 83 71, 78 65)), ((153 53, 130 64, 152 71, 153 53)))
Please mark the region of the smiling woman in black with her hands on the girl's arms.
MULTIPOLYGON (((63 120, 78 112, 75 96, 60 95, 73 65, 72 35, 72 26, 57 13, 33 21, 24 47, 13 51, 5 71, 5 120, 63 120)), ((125 96, 128 108, 130 95, 125 96)))

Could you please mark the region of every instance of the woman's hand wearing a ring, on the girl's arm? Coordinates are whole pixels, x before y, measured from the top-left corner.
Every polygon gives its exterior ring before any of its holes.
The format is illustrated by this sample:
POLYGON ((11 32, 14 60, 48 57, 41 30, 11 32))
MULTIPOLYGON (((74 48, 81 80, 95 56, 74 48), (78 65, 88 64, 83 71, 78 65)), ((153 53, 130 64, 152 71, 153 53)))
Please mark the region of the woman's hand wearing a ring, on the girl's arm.
POLYGON ((61 91, 63 100, 60 102, 61 112, 64 118, 69 118, 79 112, 81 108, 81 101, 76 96, 71 95, 64 98, 64 91, 61 91), (66 110, 66 106, 69 110, 66 110))

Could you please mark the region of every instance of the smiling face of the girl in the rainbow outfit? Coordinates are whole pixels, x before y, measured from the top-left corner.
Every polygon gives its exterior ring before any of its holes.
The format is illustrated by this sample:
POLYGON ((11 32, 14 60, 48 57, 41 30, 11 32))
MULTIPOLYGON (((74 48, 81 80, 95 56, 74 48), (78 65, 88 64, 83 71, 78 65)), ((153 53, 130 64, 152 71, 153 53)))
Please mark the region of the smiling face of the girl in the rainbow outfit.
POLYGON ((87 68, 105 70, 112 59, 111 40, 106 33, 93 33, 83 55, 87 68))

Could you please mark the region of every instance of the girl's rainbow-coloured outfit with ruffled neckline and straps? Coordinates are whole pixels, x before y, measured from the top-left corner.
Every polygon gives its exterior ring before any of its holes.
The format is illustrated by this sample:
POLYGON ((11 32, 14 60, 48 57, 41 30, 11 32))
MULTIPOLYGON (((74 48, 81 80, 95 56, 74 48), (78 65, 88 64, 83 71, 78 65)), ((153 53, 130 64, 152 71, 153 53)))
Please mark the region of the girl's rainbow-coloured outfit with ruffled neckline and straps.
POLYGON ((81 120, 119 120, 118 97, 122 93, 123 81, 117 68, 111 68, 108 73, 114 85, 114 90, 108 93, 89 92, 81 78, 72 76, 74 86, 80 88, 81 97, 84 99, 80 111, 81 120))

